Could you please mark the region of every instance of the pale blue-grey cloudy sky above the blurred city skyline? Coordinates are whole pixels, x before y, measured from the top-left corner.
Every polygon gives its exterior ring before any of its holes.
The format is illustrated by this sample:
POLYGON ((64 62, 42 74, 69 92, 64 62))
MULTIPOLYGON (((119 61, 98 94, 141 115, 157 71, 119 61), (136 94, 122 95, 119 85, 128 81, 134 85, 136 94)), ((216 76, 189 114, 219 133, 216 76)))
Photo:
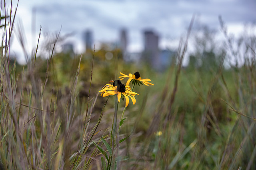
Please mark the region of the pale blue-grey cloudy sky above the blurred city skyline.
MULTIPOLYGON (((16 6, 16 0, 13 5, 16 6)), ((193 14, 196 24, 213 29, 220 29, 218 16, 222 16, 228 31, 239 33, 244 24, 256 21, 255 9, 255 0, 20 0, 16 25, 22 23, 28 49, 36 46, 40 26, 42 41, 46 33, 60 29, 61 35, 73 33, 66 41, 74 43, 77 53, 84 50, 84 30, 93 31, 94 43, 98 45, 118 41, 119 31, 125 27, 128 49, 140 51, 144 29, 156 31, 160 47, 165 48, 186 33, 193 14)), ((14 51, 19 53, 16 43, 14 40, 14 51)))

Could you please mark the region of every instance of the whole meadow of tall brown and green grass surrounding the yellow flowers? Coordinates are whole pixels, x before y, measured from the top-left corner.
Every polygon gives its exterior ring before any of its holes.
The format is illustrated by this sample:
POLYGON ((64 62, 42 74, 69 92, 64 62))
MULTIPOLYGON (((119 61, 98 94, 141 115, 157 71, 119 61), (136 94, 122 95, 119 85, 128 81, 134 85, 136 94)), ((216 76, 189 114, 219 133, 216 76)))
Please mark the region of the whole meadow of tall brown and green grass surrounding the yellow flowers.
POLYGON ((30 56, 18 27, 27 57, 20 66, 10 57, 16 10, 5 3, 1 10, 0 169, 256 169, 254 36, 236 41, 220 20, 226 46, 218 65, 183 68, 192 20, 176 61, 159 73, 124 64, 118 51, 113 61, 103 50, 57 54, 61 33, 48 39, 42 59, 41 29, 30 56), (245 62, 226 69, 228 55, 245 62), (155 85, 135 86, 136 104, 121 101, 114 111, 114 98, 98 91, 117 72, 137 70, 155 85))

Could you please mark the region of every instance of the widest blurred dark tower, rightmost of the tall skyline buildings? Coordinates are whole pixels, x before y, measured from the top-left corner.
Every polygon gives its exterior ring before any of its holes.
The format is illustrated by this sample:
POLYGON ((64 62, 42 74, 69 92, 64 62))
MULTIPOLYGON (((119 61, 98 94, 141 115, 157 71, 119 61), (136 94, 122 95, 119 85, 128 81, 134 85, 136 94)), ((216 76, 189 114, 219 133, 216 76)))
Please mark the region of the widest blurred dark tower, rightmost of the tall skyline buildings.
POLYGON ((160 66, 158 39, 158 35, 154 31, 144 31, 144 52, 142 54, 142 60, 148 62, 154 68, 160 66))

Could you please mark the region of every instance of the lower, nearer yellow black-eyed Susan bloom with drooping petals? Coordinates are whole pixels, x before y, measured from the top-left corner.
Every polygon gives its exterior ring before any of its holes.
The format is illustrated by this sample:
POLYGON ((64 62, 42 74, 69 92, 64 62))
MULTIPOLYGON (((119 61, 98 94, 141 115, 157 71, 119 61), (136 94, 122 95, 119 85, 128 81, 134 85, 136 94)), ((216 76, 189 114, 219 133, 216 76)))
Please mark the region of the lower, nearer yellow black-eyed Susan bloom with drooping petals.
POLYGON ((113 85, 111 86, 109 86, 109 84, 106 84, 99 92, 102 92, 103 97, 117 94, 118 102, 120 102, 120 98, 124 96, 126 107, 129 104, 129 98, 131 98, 133 105, 136 103, 134 96, 137 93, 132 92, 130 86, 125 86, 121 83, 120 80, 115 80, 113 85))

